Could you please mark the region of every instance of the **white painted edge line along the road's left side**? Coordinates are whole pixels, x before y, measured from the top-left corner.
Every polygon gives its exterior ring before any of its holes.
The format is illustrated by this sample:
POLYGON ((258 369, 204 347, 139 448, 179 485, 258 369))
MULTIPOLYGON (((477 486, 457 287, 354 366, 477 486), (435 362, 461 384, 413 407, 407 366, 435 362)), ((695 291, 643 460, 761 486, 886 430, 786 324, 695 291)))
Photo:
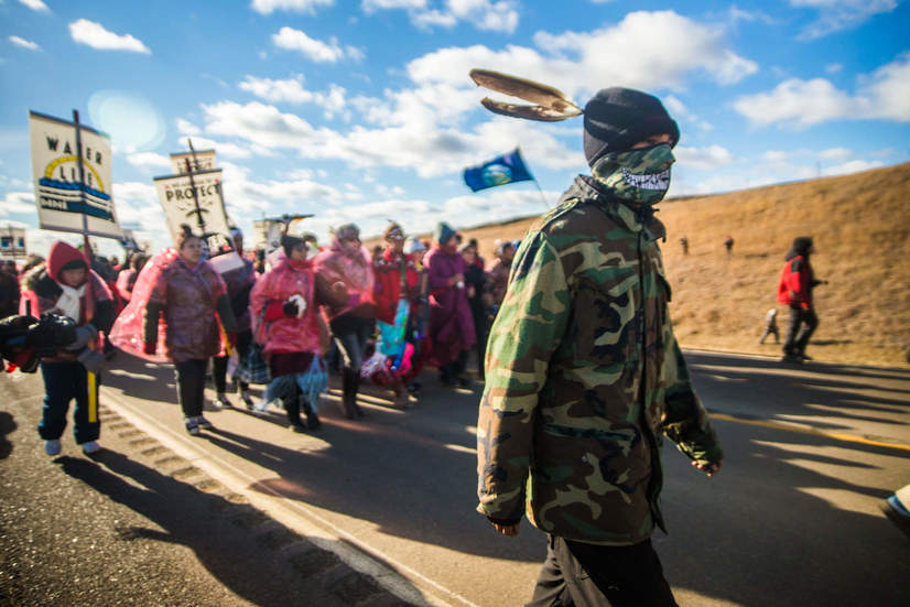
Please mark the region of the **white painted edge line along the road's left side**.
MULTIPOLYGON (((249 487, 257 483, 258 479, 252 478, 242 470, 237 469, 230 463, 221 459, 217 455, 203 452, 194 445, 194 440, 187 438, 181 434, 175 434, 171 426, 120 400, 116 394, 111 394, 108 390, 106 390, 104 386, 101 387, 101 390, 105 392, 106 404, 112 403, 112 405, 109 405, 110 409, 116 410, 139 430, 154 437, 178 455, 192 462, 193 465, 198 466, 206 474, 224 484, 230 490, 249 498, 252 503, 268 512, 273 519, 301 531, 307 540, 312 541, 323 550, 333 552, 351 568, 369 575, 376 579, 380 586, 402 600, 429 607, 451 607, 452 604, 447 603, 440 596, 435 596, 433 594, 423 596, 416 588, 413 587, 414 585, 409 579, 414 578, 419 582, 419 584, 416 584, 418 586, 429 586, 433 590, 442 593, 443 595, 453 598, 467 607, 479 607, 458 593, 449 590, 437 582, 430 579, 408 565, 399 563, 382 551, 372 548, 362 540, 359 540, 355 535, 326 520, 312 509, 284 498, 272 488, 259 485, 259 489, 257 491, 250 490, 249 487), (262 492, 267 491, 270 495, 262 495, 262 492), (362 551, 362 553, 345 545, 345 542, 357 546, 360 551, 362 551), (376 560, 383 561, 384 563, 388 563, 389 566, 384 566, 376 560), (399 572, 407 573, 407 577, 399 572)), ((426 588, 422 589, 426 590, 426 588)))

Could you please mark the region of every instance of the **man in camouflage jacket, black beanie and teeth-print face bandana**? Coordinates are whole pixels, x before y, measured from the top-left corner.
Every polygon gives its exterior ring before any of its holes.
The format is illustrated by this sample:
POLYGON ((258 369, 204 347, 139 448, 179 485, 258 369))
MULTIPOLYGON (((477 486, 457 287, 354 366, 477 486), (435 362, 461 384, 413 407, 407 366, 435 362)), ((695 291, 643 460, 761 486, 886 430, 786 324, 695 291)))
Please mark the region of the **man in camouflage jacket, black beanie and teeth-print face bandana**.
POLYGON ((478 510, 514 535, 527 501, 550 535, 532 605, 675 605, 649 540, 663 528, 661 435, 708 475, 721 467, 673 336, 651 207, 678 139, 650 95, 611 88, 588 102, 593 176, 522 240, 490 330, 478 510))

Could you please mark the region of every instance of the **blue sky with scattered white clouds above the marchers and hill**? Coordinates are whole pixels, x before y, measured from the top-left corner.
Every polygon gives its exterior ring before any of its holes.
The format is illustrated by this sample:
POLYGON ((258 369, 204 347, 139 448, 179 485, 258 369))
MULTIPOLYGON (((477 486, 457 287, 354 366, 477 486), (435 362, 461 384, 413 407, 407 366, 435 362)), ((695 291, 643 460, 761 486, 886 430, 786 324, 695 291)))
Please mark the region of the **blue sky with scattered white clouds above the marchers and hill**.
MULTIPOLYGON (((214 148, 249 231, 426 231, 544 209, 530 183, 472 194, 462 170, 521 148, 552 205, 587 166, 582 120, 497 117, 467 73, 659 96, 680 123, 670 195, 910 160, 910 8, 900 0, 0 0, 0 226, 39 230, 28 112, 112 138, 123 227, 169 245, 152 177, 214 148)), ((72 240, 72 237, 68 239, 72 240)), ((113 241, 101 250, 119 252, 113 241)))

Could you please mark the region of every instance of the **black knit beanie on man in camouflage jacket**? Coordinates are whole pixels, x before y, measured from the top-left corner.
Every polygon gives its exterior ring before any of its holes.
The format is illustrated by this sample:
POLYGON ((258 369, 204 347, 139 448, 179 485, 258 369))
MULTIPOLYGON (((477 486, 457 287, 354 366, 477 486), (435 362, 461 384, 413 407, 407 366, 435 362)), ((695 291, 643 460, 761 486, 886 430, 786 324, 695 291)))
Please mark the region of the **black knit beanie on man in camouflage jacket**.
POLYGON ((602 89, 585 106, 585 158, 589 166, 609 152, 625 152, 654 134, 680 140, 676 122, 660 99, 631 88, 602 89))

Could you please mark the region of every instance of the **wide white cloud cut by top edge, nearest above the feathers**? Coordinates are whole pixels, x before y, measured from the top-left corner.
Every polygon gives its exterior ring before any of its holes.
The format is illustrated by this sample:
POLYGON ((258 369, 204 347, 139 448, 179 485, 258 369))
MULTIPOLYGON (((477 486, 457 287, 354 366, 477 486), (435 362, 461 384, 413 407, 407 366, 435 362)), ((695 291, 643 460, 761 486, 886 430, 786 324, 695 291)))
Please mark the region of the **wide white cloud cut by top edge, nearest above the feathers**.
POLYGON ((518 26, 518 3, 513 0, 446 0, 445 8, 431 9, 426 0, 362 0, 364 12, 405 10, 421 29, 454 28, 464 21, 478 30, 512 33, 518 26))

